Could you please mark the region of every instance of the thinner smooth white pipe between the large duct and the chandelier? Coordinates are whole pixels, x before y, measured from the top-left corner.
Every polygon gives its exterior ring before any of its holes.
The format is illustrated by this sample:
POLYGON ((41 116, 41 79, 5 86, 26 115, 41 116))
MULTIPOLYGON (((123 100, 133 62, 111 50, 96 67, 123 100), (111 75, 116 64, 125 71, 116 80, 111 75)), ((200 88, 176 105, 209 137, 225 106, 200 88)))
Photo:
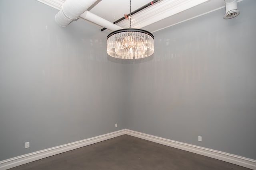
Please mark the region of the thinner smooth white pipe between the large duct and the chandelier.
POLYGON ((115 25, 114 23, 111 23, 108 20, 105 20, 95 14, 92 14, 89 11, 84 12, 82 15, 80 15, 81 18, 84 18, 88 21, 91 21, 93 23, 96 23, 97 25, 100 25, 102 27, 105 27, 107 29, 110 29, 111 31, 116 31, 118 29, 123 29, 122 27, 115 25))

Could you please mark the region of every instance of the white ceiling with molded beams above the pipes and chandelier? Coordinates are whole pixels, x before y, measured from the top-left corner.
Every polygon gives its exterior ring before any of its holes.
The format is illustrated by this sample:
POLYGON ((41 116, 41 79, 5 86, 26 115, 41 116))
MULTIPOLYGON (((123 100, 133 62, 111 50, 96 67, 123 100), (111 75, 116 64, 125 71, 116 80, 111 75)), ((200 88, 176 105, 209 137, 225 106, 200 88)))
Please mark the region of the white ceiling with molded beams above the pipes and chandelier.
MULTIPOLYGON (((38 0, 44 4, 47 4, 49 6, 52 6, 53 8, 60 9, 62 4, 65 0, 38 0)), ((156 2, 152 6, 147 7, 145 10, 152 10, 152 13, 148 16, 148 19, 150 20, 151 17, 154 17, 158 15, 160 11, 154 10, 154 6, 157 6, 158 3, 163 3, 166 1, 174 1, 174 0, 161 0, 159 2, 156 2)), ((198 0, 192 0, 192 1, 198 1, 198 0)), ((238 0, 240 2, 242 0, 238 0)), ((132 11, 148 4, 151 2, 150 0, 132 0, 132 11)), ((158 31, 160 29, 163 29, 165 27, 169 27, 171 25, 175 25, 177 23, 180 23, 182 21, 190 20, 194 17, 206 14, 208 12, 212 12, 214 10, 218 10, 223 8, 223 15, 225 14, 225 8, 224 8, 225 2, 224 0, 208 0, 207 2, 204 2, 202 4, 199 4, 193 8, 190 8, 188 10, 185 10, 183 12, 179 12, 178 14, 169 16, 164 19, 158 19, 154 23, 150 23, 150 25, 147 24, 135 24, 135 27, 132 24, 132 27, 134 28, 142 28, 146 29, 150 32, 158 31), (145 26, 146 25, 146 26, 145 26)), ((239 9, 239 3, 238 3, 238 9, 239 9)), ((172 10, 172 9, 170 9, 172 10)), ((96 14, 97 16, 100 16, 101 18, 104 18, 105 20, 108 20, 110 22, 114 22, 115 20, 118 20, 122 17, 124 17, 124 14, 129 14, 130 12, 130 0, 98 0, 92 5, 88 11, 90 11, 93 14, 96 14)), ((143 10, 142 10, 143 12, 143 10)), ((142 12, 138 12, 134 14, 140 15, 142 12)), ((133 18, 133 16, 132 16, 133 18)), ((146 22, 145 20, 145 22, 146 22)), ((143 22, 143 21, 140 21, 143 22)), ((133 21, 132 21, 133 23, 133 21)), ((129 21, 128 19, 125 19, 124 21, 121 21, 120 23, 116 23, 117 25, 120 25, 123 28, 129 27, 129 21)), ((100 26, 100 25, 99 25, 100 26)), ((99 31, 102 27, 99 27, 99 31)), ((108 31, 108 30, 106 30, 108 31)))

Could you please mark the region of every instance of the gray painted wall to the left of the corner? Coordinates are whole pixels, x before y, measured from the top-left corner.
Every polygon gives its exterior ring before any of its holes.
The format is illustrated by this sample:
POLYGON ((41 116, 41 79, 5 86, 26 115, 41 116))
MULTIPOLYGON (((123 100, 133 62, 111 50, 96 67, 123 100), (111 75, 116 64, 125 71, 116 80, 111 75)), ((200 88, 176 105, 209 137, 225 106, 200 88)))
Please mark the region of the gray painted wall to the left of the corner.
POLYGON ((0 160, 125 128, 122 64, 108 61, 108 32, 81 20, 59 27, 57 12, 0 1, 0 160))

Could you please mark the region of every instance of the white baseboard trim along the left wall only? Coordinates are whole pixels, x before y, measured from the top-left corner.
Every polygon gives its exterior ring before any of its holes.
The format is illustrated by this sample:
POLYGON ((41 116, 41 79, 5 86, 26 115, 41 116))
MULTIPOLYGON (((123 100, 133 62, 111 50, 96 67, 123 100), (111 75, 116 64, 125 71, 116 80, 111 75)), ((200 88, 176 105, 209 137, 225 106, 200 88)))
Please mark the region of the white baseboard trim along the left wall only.
POLYGON ((13 168, 15 166, 19 166, 22 164, 26 164, 35 160, 39 160, 42 158, 46 158, 48 156, 53 156, 55 154, 60 154, 69 150, 73 150, 73 149, 77 149, 80 147, 85 147, 87 145, 91 145, 94 143, 98 143, 101 141, 105 141, 107 139, 111 139, 114 137, 118 137, 120 135, 124 135, 125 134, 125 129, 122 129, 120 131, 115 131, 112 133, 107 133, 104 135, 100 135, 100 136, 96 136, 96 137, 92 137, 92 138, 88 138, 88 139, 84 139, 81 141, 76 141, 76 142, 72 142, 72 143, 68 143, 65 145, 60 145, 57 147, 53 147, 53 148, 49 148, 49 149, 44 149, 44 150, 40 150, 37 152, 32 152, 29 154, 24 154, 21 156, 17 156, 14 158, 10 158, 7 160, 3 160, 0 161, 0 170, 6 170, 9 168, 13 168))

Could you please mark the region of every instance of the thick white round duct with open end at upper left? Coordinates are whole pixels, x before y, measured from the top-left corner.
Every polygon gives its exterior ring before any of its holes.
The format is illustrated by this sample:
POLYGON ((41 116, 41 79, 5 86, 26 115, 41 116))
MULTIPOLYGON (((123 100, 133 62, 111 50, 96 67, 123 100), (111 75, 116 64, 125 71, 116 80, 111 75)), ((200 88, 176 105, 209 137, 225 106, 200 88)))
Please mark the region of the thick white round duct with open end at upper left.
POLYGON ((97 0, 66 0, 61 10, 55 15, 58 25, 66 27, 70 22, 76 20, 97 0))

